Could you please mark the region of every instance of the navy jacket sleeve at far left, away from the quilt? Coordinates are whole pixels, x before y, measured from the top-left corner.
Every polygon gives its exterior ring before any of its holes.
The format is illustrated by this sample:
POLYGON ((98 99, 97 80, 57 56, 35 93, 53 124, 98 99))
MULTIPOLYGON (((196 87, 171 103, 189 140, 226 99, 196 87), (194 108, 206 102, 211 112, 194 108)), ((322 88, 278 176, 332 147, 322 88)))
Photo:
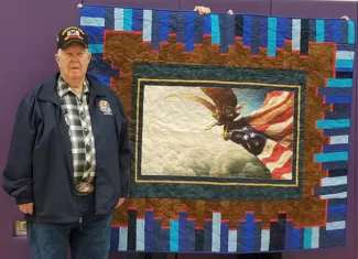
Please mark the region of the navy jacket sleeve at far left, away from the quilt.
POLYGON ((35 142, 34 97, 21 101, 10 142, 8 161, 2 175, 3 190, 17 204, 33 202, 32 154, 35 142))

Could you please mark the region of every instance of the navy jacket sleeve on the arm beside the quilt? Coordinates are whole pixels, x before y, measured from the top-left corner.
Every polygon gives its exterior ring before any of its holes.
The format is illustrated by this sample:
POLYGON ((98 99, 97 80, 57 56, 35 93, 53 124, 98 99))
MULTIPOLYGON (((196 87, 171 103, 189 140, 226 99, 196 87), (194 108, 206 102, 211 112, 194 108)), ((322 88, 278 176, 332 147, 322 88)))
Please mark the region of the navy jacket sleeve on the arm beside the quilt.
POLYGON ((129 197, 129 166, 131 160, 131 150, 128 132, 128 118, 121 100, 113 93, 119 112, 116 112, 116 128, 118 139, 118 155, 120 168, 120 197, 129 197))

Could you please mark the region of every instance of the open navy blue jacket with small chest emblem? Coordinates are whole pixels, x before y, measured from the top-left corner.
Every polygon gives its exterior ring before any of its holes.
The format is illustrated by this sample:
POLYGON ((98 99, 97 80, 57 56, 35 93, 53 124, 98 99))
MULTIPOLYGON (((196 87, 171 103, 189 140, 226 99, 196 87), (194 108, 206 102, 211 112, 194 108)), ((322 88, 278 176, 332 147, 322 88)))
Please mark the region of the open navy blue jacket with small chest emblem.
MULTIPOLYGON (((73 162, 67 125, 56 91, 58 73, 33 88, 17 112, 2 186, 17 204, 34 203, 26 219, 70 223, 80 217, 73 184, 73 162)), ((117 95, 91 76, 89 111, 96 147, 96 213, 113 212, 128 196, 130 147, 128 120, 117 95), (106 100, 112 115, 99 109, 106 100)))

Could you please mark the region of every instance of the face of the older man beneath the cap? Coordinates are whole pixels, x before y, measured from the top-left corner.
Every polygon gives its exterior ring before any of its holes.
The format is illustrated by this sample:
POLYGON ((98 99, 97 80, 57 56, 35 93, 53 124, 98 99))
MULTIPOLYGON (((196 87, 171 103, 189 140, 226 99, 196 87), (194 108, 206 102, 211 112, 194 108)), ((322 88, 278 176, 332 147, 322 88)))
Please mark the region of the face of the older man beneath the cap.
POLYGON ((83 44, 74 42, 65 50, 58 50, 56 61, 63 76, 68 79, 82 79, 86 75, 90 53, 83 44))

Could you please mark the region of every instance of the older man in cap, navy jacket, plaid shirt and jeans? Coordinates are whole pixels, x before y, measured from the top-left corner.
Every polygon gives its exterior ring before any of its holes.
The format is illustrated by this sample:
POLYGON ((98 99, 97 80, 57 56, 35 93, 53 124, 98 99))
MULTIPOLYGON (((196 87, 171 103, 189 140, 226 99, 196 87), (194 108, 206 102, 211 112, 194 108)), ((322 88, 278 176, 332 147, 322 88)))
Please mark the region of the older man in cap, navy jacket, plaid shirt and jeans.
POLYGON ((25 215, 33 259, 107 259, 113 209, 128 195, 127 118, 88 75, 88 40, 57 37, 59 72, 21 101, 2 185, 25 215))

